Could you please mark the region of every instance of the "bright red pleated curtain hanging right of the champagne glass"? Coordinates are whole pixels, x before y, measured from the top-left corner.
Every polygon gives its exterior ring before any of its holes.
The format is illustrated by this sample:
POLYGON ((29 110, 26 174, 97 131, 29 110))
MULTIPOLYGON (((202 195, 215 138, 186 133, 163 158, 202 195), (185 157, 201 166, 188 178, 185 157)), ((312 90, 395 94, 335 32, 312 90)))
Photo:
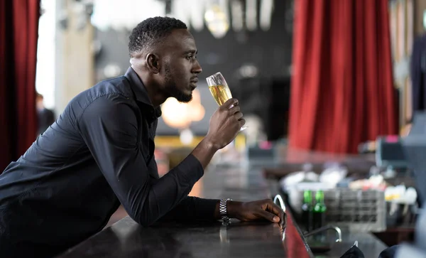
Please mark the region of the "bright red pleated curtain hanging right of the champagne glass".
POLYGON ((398 133, 388 0, 295 0, 290 147, 355 153, 398 133))

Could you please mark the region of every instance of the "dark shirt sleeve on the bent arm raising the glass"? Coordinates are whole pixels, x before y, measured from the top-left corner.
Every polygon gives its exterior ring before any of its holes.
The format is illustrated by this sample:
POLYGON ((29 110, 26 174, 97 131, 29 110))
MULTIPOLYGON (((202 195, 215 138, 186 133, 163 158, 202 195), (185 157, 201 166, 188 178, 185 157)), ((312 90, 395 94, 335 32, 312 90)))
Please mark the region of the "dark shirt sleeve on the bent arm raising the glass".
POLYGON ((84 109, 78 127, 129 216, 146 227, 187 198, 204 170, 190 155, 162 178, 151 176, 138 139, 141 117, 130 101, 120 95, 99 97, 84 109))

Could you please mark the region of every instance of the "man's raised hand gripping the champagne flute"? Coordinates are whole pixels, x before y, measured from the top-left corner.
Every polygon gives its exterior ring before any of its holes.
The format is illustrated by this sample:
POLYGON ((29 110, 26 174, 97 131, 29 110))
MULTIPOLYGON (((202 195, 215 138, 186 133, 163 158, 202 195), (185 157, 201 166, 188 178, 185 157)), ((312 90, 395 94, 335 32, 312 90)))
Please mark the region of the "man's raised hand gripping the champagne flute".
POLYGON ((212 115, 209 131, 204 139, 211 142, 217 149, 222 149, 234 140, 245 123, 238 100, 227 100, 212 115))

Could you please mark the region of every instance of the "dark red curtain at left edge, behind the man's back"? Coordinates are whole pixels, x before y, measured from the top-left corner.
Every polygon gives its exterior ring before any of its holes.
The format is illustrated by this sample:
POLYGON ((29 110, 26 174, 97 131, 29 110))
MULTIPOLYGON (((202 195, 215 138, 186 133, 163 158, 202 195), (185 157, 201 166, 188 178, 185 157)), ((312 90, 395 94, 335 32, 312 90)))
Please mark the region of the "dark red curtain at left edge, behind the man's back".
POLYGON ((35 64, 39 0, 0 1, 0 173, 37 134, 35 64))

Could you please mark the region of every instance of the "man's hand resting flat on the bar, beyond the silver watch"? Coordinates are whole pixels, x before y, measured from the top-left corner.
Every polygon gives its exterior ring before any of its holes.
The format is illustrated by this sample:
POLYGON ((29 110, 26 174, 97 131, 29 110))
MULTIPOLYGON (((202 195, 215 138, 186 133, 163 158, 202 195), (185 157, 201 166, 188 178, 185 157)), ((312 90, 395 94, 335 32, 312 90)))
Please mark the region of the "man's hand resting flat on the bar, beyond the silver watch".
POLYGON ((228 201, 228 215, 241 221, 269 220, 284 223, 284 211, 271 199, 256 200, 248 203, 228 201))

